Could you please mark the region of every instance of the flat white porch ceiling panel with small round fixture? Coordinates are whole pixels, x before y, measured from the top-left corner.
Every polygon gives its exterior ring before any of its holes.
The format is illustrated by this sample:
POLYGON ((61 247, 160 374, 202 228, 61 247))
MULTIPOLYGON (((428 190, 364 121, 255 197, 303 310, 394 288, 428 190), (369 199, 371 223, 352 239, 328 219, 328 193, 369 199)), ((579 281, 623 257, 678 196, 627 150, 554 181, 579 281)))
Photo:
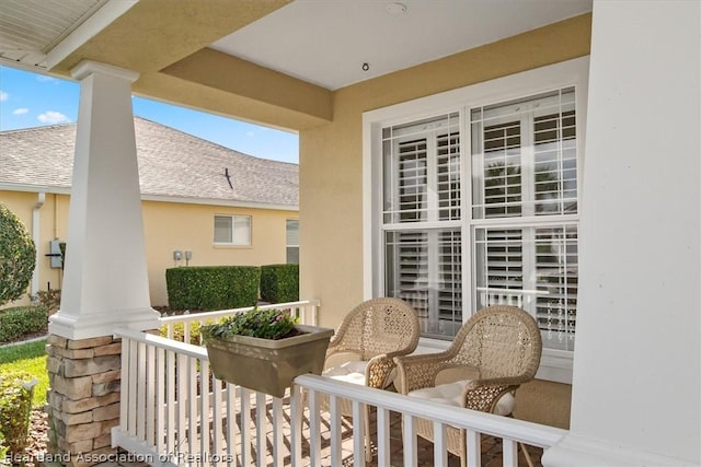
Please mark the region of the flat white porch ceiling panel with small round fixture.
POLYGON ((591 0, 297 0, 210 47, 336 90, 588 11, 591 0))

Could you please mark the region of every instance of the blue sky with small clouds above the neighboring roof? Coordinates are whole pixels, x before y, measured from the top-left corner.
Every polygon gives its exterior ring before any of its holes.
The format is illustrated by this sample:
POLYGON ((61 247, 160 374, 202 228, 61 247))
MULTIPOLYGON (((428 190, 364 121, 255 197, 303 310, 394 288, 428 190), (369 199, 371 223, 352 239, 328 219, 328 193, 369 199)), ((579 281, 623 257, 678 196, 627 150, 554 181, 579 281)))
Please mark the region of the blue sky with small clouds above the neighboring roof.
MULTIPOLYGON (((0 67, 0 130, 67 124, 78 117, 80 85, 0 67)), ((296 133, 134 97, 134 114, 245 154, 298 163, 296 133)))

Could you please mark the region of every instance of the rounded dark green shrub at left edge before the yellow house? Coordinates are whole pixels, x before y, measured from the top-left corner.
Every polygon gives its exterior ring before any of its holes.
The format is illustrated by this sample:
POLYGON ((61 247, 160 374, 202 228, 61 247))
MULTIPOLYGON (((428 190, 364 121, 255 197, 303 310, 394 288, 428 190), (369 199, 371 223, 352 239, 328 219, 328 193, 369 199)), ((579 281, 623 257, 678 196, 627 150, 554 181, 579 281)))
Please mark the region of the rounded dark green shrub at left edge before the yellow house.
POLYGON ((35 266, 32 236, 22 221, 0 203, 0 305, 24 294, 35 266))

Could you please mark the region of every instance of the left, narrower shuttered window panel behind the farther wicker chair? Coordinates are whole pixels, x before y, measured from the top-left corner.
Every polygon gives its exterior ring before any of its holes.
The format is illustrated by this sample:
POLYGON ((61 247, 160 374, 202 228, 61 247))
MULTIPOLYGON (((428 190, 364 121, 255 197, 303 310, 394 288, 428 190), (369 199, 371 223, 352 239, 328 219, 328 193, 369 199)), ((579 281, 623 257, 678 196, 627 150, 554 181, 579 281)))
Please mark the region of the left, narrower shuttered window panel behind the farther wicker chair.
POLYGON ((384 293, 410 302, 422 334, 439 338, 462 324, 458 121, 450 114, 382 131, 384 293))

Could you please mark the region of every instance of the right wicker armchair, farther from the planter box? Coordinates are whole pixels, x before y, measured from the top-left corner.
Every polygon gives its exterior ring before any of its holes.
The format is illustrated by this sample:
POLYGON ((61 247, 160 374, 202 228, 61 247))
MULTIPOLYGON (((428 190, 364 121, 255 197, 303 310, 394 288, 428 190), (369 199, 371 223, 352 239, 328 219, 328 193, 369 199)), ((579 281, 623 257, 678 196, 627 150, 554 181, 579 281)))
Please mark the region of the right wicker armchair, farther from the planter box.
MULTIPOLYGON (((536 376, 541 352, 540 330, 531 315, 515 306, 489 306, 462 325, 446 351, 395 358, 394 384, 409 396, 510 416, 515 392, 536 376)), ((433 441, 433 423, 420 419, 416 433, 433 441)), ((448 451, 464 467, 464 430, 449 427, 447 436, 448 451)))

